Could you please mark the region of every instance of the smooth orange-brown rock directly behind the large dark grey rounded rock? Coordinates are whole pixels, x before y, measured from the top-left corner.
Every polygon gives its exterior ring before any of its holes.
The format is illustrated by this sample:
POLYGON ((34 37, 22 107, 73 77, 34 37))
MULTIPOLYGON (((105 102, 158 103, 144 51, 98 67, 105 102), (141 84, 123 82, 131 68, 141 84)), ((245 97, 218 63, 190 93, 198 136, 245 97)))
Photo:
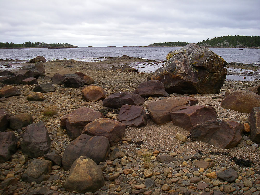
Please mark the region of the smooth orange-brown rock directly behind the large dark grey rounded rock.
POLYGON ((108 138, 110 146, 114 146, 125 135, 125 125, 108 118, 100 118, 88 123, 82 131, 88 135, 104 136, 108 138))

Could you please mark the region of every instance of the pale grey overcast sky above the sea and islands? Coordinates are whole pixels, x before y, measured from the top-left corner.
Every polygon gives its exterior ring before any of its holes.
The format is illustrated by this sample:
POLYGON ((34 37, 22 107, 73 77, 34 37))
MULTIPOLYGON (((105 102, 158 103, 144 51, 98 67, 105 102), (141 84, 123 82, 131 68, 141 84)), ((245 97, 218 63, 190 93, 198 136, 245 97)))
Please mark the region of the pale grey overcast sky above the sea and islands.
POLYGON ((0 42, 196 43, 260 35, 259 0, 0 0, 0 42))

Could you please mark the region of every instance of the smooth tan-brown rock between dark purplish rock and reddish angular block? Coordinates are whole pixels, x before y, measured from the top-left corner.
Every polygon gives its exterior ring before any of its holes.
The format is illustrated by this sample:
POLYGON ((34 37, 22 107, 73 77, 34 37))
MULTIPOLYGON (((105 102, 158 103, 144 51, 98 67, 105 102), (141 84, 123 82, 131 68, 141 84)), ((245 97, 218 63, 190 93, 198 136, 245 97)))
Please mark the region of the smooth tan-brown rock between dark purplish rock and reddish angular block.
POLYGON ((146 106, 151 119, 157 125, 164 125, 171 121, 171 112, 182 107, 189 106, 189 103, 181 97, 171 97, 162 100, 149 102, 146 106))

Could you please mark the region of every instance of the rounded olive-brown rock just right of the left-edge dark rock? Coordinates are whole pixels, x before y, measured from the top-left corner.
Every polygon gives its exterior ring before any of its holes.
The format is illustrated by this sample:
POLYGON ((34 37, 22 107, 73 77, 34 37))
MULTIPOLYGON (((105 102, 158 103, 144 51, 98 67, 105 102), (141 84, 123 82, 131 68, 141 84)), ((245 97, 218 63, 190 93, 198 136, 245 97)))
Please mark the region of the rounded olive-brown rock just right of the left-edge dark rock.
POLYGON ((21 113, 10 117, 10 128, 13 130, 22 129, 33 123, 33 116, 30 113, 21 113))

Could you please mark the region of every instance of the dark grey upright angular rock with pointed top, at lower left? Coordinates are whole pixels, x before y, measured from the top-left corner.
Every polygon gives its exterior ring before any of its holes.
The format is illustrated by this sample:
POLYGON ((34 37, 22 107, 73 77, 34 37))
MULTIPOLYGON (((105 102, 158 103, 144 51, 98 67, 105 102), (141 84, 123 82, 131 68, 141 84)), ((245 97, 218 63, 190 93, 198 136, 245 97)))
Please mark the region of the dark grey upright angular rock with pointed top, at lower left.
POLYGON ((30 158, 41 157, 50 150, 51 140, 44 123, 28 125, 21 141, 23 154, 30 158))

